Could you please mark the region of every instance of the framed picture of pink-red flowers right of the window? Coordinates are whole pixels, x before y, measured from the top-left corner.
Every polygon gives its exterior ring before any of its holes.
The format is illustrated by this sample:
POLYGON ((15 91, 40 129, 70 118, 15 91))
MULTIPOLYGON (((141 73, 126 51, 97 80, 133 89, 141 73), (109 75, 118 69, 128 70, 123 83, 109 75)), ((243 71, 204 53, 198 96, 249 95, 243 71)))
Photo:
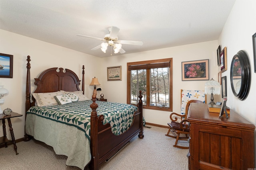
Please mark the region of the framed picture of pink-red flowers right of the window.
POLYGON ((209 59, 181 63, 182 81, 209 80, 209 59))

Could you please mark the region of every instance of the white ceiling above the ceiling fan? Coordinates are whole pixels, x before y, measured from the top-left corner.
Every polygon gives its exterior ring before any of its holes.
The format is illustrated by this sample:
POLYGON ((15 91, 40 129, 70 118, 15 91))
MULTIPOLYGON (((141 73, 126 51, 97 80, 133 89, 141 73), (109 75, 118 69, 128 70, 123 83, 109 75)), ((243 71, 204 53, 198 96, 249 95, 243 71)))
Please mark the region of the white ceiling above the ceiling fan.
MULTIPOLYGON (((0 0, 0 29, 81 51, 91 49, 108 27, 120 28, 119 40, 143 41, 122 45, 136 53, 218 39, 235 0, 0 0)), ((120 55, 114 54, 112 56, 120 55)))

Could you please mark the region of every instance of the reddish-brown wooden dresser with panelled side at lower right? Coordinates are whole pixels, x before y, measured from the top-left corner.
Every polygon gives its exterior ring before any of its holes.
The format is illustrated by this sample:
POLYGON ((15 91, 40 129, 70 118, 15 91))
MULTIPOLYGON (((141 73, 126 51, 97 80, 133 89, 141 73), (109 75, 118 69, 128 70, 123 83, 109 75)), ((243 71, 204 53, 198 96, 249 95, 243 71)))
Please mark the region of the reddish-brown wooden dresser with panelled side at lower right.
POLYGON ((230 109, 225 114, 208 111, 207 104, 190 104, 190 170, 254 169, 255 126, 230 109))

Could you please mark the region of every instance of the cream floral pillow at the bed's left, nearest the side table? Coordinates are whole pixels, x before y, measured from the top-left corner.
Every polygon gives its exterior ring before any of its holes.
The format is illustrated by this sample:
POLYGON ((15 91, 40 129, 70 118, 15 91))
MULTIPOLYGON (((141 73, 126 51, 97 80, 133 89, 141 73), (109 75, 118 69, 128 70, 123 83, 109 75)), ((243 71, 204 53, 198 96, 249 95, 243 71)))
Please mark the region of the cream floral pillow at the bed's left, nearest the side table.
POLYGON ((64 94, 63 92, 49 92, 49 93, 33 93, 33 97, 36 100, 37 106, 52 106, 58 105, 58 102, 55 100, 54 96, 64 94))

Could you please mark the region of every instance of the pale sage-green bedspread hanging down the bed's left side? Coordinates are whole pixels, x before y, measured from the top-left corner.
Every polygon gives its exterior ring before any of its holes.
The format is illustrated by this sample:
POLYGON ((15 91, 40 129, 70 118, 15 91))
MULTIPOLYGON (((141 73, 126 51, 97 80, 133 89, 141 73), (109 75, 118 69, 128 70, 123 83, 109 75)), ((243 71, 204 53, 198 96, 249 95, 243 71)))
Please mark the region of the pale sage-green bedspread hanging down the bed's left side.
POLYGON ((83 170, 90 162, 90 141, 76 127, 34 114, 26 115, 25 127, 28 135, 53 147, 56 154, 68 156, 66 165, 83 170))

